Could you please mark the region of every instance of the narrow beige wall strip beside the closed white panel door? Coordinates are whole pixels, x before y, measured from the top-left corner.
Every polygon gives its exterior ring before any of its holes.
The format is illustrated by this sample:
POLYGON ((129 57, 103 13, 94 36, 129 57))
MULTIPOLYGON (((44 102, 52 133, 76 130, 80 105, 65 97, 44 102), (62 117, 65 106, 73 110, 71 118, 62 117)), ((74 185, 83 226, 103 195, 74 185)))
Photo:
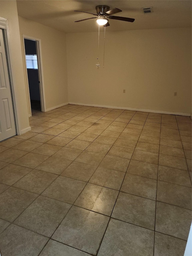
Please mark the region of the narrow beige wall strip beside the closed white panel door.
POLYGON ((29 117, 27 112, 16 1, 0 1, 0 17, 8 20, 8 47, 10 53, 10 65, 13 78, 13 91, 16 100, 18 128, 19 133, 21 134, 25 132, 26 129, 29 129, 29 117))

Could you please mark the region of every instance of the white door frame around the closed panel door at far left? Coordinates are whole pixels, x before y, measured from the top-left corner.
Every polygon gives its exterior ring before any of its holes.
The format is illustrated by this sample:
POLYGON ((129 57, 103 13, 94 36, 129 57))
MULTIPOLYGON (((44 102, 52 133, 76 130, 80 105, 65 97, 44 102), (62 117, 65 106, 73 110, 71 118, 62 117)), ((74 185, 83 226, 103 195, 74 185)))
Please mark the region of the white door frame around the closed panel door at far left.
POLYGON ((9 42, 10 42, 9 27, 8 27, 7 19, 3 17, 0 17, 0 29, 3 29, 3 34, 4 34, 5 50, 6 50, 6 57, 7 57, 7 68, 9 72, 10 89, 11 89, 12 101, 13 101, 13 113, 15 116, 16 134, 21 134, 20 117, 17 111, 19 107, 17 107, 18 101, 16 99, 16 94, 14 91, 13 76, 11 71, 10 51, 9 51, 9 42))

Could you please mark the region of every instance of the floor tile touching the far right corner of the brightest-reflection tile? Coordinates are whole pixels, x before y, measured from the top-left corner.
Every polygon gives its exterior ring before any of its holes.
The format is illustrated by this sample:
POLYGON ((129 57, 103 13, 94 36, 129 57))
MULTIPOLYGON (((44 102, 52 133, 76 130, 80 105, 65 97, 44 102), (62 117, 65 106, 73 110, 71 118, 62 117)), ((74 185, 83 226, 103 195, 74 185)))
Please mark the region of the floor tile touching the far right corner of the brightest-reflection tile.
POLYGON ((156 200, 157 181, 133 175, 130 173, 125 174, 121 191, 137 196, 145 197, 148 199, 156 200))

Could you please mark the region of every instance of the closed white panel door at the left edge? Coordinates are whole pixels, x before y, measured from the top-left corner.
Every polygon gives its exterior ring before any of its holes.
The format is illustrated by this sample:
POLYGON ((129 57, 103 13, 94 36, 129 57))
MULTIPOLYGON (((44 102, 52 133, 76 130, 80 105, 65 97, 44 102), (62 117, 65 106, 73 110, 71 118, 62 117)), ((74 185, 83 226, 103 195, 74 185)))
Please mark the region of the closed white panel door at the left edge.
POLYGON ((16 135, 3 31, 0 29, 0 141, 16 135))

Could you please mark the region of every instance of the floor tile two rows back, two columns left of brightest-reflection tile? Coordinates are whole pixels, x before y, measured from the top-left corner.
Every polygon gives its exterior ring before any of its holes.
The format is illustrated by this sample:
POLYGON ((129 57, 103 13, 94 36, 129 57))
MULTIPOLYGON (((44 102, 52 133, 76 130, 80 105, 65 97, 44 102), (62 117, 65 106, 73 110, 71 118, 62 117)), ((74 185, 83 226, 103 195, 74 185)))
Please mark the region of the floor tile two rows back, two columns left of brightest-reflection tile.
POLYGON ((82 150, 80 149, 71 149, 71 148, 63 147, 62 149, 57 151, 53 156, 73 161, 75 160, 75 158, 78 157, 78 155, 81 154, 81 152, 82 150))

